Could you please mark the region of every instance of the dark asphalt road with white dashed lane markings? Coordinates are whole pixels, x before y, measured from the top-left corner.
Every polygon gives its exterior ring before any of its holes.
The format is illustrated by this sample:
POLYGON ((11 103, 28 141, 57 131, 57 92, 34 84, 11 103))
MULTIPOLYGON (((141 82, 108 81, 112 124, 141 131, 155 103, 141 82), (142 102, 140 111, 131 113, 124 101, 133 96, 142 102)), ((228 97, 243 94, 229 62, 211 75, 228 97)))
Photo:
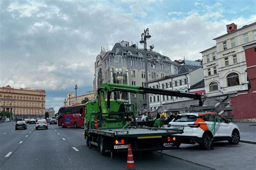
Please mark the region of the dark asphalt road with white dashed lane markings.
MULTIPOLYGON (((14 123, 0 124, 0 169, 126 169, 127 154, 111 159, 97 147, 89 149, 83 129, 35 130, 35 124, 14 129, 14 123)), ((133 158, 136 169, 211 169, 157 152, 133 153, 133 158)))

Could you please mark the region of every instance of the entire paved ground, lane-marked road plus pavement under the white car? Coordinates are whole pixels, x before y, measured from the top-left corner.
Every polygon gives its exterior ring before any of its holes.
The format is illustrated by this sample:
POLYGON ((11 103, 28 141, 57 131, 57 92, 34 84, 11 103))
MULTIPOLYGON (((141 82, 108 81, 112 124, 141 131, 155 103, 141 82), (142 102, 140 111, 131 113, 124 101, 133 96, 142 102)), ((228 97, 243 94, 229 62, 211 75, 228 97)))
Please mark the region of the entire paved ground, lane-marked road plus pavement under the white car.
MULTIPOLYGON (((14 130, 15 124, 0 124, 0 169, 126 169, 127 154, 113 159, 86 146, 83 129, 14 130)), ((181 145, 160 153, 133 153, 137 169, 253 169, 256 145, 226 141, 215 143, 215 150, 203 151, 199 145, 181 145), (242 155, 242 158, 241 156, 242 155)))

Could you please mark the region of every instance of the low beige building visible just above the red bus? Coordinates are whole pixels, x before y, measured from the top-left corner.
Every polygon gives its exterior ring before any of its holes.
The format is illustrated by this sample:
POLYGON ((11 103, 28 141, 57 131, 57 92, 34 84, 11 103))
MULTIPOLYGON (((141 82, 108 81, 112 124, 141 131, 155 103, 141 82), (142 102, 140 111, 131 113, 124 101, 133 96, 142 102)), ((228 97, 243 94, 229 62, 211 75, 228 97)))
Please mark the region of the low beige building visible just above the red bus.
POLYGON ((87 97, 89 100, 94 100, 95 98, 94 98, 93 90, 87 91, 86 94, 79 95, 77 97, 73 93, 67 93, 66 99, 64 100, 64 105, 68 106, 71 104, 80 104, 85 97, 87 97))

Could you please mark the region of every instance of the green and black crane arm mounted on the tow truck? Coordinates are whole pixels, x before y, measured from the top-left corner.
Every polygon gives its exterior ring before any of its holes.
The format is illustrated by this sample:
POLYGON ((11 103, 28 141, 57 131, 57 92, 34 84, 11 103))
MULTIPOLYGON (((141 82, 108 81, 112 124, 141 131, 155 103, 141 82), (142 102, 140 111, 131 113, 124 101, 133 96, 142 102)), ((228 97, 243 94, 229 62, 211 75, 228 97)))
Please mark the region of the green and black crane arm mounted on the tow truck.
POLYGON ((108 113, 110 108, 110 94, 114 91, 124 91, 128 93, 138 93, 138 94, 157 94, 157 95, 166 95, 166 96, 177 96, 177 97, 187 97, 199 100, 199 106, 203 105, 201 95, 194 93, 186 93, 176 90, 165 90, 165 89, 154 89, 147 87, 139 86, 130 86, 126 84, 112 84, 112 83, 103 83, 102 86, 98 89, 99 104, 102 110, 102 113, 108 113), (107 102, 105 101, 105 93, 107 93, 107 102))

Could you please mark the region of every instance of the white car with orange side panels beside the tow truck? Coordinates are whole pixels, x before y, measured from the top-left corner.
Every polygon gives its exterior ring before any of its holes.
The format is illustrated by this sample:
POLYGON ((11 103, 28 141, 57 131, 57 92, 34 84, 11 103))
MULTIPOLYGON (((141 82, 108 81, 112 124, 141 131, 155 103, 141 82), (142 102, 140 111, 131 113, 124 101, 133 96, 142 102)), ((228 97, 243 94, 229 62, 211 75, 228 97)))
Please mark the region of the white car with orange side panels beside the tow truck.
POLYGON ((197 112, 176 115, 169 122, 171 129, 184 126, 184 133, 176 134, 177 147, 183 144, 199 143, 205 150, 210 148, 210 141, 227 140, 230 144, 238 144, 240 131, 237 125, 231 123, 215 112, 197 112))

